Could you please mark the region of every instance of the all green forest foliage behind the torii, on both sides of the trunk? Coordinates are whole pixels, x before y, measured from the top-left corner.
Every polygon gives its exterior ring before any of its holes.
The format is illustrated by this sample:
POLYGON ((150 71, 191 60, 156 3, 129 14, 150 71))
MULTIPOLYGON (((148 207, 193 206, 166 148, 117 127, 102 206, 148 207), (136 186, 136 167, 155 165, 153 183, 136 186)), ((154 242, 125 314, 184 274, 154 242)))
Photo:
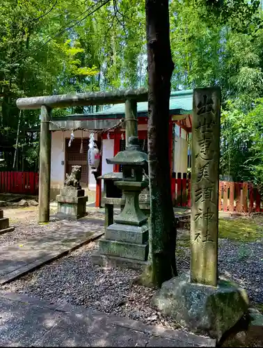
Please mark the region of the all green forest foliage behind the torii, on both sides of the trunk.
MULTIPOLYGON (((144 0, 111 1, 76 26, 93 0, 52 6, 48 0, 3 0, 0 8, 0 133, 11 150, 18 97, 147 84, 144 0)), ((260 1, 170 1, 173 89, 221 86, 221 174, 263 187, 262 39, 260 1)), ((82 111, 55 109, 53 117, 82 111)), ((24 111, 19 136, 39 127, 39 114, 24 111)), ((35 141, 19 138, 18 152, 29 167, 37 157, 35 141)))

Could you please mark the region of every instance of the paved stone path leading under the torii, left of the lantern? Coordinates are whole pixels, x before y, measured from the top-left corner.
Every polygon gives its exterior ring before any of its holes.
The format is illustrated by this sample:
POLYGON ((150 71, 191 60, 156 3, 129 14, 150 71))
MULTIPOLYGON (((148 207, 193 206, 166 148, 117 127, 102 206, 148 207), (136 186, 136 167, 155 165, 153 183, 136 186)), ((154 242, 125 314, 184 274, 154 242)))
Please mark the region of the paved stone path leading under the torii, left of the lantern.
POLYGON ((60 228, 45 230, 24 242, 0 247, 0 284, 97 239, 104 233, 103 226, 104 221, 99 219, 63 220, 60 228))

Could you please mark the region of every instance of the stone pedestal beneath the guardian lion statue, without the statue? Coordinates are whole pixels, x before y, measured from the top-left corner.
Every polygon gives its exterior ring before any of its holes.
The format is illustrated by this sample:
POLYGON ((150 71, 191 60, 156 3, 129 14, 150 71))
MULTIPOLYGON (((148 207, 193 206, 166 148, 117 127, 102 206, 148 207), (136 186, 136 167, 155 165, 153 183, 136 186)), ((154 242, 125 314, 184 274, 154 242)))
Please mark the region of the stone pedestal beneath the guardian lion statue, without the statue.
POLYGON ((56 202, 58 203, 58 216, 79 219, 86 215, 88 196, 85 196, 83 189, 73 186, 64 187, 61 189, 61 194, 56 196, 56 202))

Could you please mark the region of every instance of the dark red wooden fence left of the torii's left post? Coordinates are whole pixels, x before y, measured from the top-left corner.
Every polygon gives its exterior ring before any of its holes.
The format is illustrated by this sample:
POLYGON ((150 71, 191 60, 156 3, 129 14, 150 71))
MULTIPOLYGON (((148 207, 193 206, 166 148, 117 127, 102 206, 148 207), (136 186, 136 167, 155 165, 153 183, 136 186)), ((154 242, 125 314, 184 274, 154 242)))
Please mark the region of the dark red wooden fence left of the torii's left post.
POLYGON ((0 192, 38 194, 38 173, 0 172, 0 192))

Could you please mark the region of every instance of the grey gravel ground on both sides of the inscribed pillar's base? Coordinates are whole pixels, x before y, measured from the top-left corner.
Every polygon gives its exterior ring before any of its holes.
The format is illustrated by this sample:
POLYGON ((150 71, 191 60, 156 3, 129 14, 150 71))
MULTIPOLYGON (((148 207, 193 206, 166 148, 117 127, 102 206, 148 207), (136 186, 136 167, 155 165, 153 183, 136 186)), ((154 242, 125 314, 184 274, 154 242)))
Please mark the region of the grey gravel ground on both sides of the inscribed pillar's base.
MULTIPOLYGON (((145 324, 178 328, 173 319, 152 308, 150 301, 154 290, 131 283, 140 272, 103 269, 93 265, 90 254, 97 248, 98 242, 92 242, 32 274, 3 285, 1 290, 82 305, 104 313, 140 320, 145 324)), ((180 248, 177 266, 180 271, 184 271, 189 269, 190 253, 189 248, 180 248)), ((244 247, 237 242, 221 239, 218 268, 220 273, 244 286, 251 300, 263 302, 260 242, 246 244, 244 247)))

